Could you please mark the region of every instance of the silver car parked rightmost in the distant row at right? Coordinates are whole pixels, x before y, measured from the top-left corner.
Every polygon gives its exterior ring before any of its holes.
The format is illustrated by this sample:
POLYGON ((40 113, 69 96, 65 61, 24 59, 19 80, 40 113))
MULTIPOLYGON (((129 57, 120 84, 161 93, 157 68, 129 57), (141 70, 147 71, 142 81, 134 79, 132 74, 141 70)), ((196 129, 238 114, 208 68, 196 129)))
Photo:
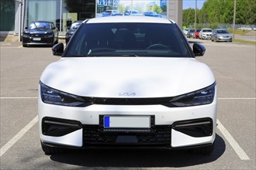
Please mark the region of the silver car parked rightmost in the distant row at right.
POLYGON ((212 34, 212 41, 232 42, 232 35, 227 31, 227 29, 214 29, 212 34))

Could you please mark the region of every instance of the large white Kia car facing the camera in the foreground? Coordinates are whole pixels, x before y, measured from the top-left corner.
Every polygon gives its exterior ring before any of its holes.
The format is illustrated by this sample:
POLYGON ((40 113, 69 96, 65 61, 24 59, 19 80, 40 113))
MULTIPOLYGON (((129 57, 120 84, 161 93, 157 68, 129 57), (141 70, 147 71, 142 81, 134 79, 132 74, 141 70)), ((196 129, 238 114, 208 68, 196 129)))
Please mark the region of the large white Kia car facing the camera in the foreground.
POLYGON ((116 16, 82 23, 40 77, 40 141, 64 148, 213 151, 216 80, 169 19, 116 16))

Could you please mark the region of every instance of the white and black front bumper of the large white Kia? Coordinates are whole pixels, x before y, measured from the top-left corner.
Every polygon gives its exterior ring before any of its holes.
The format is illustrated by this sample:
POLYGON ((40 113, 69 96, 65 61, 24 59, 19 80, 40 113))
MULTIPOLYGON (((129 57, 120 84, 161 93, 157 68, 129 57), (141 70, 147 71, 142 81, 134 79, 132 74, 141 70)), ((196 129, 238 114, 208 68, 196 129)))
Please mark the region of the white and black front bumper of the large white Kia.
MULTIPOLYGON (((216 92, 215 92, 216 93, 216 92)), ((64 107, 38 98, 40 139, 50 146, 188 148, 213 144, 216 94, 212 104, 197 107, 101 105, 64 107), (147 116, 150 128, 104 128, 104 116, 147 116)))

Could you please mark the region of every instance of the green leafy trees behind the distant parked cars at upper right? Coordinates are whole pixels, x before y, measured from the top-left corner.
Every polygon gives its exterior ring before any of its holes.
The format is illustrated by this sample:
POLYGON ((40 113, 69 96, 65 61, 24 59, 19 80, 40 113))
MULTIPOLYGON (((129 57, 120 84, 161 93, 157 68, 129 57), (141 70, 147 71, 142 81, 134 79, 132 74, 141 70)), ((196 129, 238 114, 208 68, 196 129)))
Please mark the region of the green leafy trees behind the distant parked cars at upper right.
MULTIPOLYGON (((191 12, 195 9, 189 8, 183 10, 183 25, 188 26, 194 22, 191 12)), ((236 23, 254 25, 256 23, 256 1, 238 0, 236 23)), ((234 14, 234 0, 206 0, 202 8, 197 11, 199 23, 208 23, 210 25, 232 24, 234 14)))

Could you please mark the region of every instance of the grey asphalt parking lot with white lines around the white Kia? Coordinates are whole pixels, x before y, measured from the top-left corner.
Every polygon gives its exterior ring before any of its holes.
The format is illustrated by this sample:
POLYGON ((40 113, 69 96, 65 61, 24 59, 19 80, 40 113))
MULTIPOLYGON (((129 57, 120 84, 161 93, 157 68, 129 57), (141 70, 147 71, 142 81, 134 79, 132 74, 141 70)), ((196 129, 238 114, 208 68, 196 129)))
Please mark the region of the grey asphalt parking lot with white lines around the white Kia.
MULTIPOLYGON (((189 39, 195 42, 195 39, 189 39)), ((196 40, 218 88, 218 126, 212 155, 167 150, 84 150, 44 155, 37 122, 40 74, 51 62, 48 47, 1 42, 1 169, 255 169, 256 47, 196 40)), ((202 77, 203 79, 203 77, 202 77)))

